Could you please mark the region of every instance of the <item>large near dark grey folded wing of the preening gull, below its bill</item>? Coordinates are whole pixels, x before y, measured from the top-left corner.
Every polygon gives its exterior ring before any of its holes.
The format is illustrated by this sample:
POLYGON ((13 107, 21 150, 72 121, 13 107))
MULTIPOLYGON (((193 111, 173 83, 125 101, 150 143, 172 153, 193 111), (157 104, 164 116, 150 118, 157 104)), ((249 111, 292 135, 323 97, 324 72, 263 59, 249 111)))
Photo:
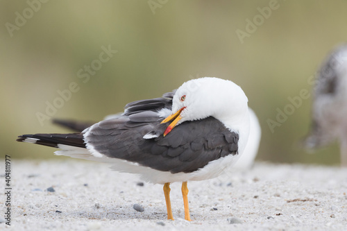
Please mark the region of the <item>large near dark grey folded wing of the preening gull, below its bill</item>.
POLYGON ((96 123, 87 131, 85 142, 108 157, 171 173, 193 172, 213 160, 237 154, 239 135, 213 117, 183 122, 165 137, 162 134, 169 123, 161 124, 154 114, 146 115, 147 122, 122 120, 96 123), (149 132, 155 133, 155 138, 144 139, 149 132))

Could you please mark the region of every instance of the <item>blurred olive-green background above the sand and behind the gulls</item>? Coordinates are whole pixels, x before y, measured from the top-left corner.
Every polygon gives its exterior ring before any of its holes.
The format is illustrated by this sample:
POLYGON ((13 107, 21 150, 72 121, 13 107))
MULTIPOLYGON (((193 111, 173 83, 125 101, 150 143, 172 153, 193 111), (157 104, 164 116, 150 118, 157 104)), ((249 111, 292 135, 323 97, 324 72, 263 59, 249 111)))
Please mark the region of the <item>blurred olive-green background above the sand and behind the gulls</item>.
POLYGON ((339 163, 337 144, 314 155, 298 146, 310 127, 312 97, 273 132, 267 121, 276 121, 277 108, 283 110, 290 103, 288 97, 299 96, 301 89, 311 92, 310 78, 325 55, 346 42, 347 1, 0 4, 3 156, 54 157, 52 148, 15 139, 28 133, 68 132, 48 119, 42 126, 37 112, 46 114, 46 102, 53 103, 57 91, 72 82, 78 92, 71 93, 53 117, 99 121, 121 112, 130 101, 161 96, 192 78, 216 76, 240 85, 260 119, 257 160, 339 163), (266 11, 269 6, 271 13, 266 11), (257 25, 249 25, 248 19, 257 25), (237 30, 247 29, 241 41, 237 30), (102 46, 117 50, 104 63, 97 61, 102 46), (86 74, 83 69, 91 64, 98 70, 87 74, 90 79, 84 83, 87 77, 79 78, 78 71, 86 74))

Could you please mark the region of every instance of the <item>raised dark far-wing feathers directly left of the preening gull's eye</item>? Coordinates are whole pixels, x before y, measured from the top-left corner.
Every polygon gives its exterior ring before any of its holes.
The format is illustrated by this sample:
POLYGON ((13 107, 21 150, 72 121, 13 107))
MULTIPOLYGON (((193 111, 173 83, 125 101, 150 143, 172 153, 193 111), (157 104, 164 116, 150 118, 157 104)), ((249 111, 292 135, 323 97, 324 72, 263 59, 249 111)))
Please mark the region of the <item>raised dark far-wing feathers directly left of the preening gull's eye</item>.
POLYGON ((128 103, 124 107, 124 115, 127 116, 130 114, 135 114, 135 113, 144 112, 144 111, 158 112, 159 110, 163 108, 167 108, 171 110, 172 98, 174 97, 175 92, 176 92, 176 89, 173 92, 167 92, 163 94, 162 97, 160 98, 144 99, 144 100, 128 103))

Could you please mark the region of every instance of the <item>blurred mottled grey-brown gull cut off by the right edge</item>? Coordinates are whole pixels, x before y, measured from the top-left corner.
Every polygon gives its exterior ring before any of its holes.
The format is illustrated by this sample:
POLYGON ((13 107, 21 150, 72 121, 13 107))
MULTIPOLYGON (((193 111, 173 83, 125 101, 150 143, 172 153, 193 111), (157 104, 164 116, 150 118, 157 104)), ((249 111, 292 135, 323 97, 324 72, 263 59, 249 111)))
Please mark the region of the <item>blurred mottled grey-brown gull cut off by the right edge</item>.
POLYGON ((339 140, 341 166, 347 166, 347 44, 323 61, 314 87, 312 126, 304 140, 308 149, 339 140))

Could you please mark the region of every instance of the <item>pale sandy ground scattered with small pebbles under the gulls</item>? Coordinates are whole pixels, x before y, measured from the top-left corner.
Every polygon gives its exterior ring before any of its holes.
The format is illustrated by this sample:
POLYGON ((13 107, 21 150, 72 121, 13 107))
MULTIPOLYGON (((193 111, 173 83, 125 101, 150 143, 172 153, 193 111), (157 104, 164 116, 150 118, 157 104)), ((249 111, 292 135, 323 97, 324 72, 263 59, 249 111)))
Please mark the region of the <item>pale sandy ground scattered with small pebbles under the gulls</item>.
POLYGON ((256 163, 188 182, 191 222, 180 183, 171 185, 175 221, 168 221, 162 185, 142 186, 108 164, 12 160, 11 175, 12 221, 0 216, 0 230, 347 230, 347 169, 339 167, 256 163))

